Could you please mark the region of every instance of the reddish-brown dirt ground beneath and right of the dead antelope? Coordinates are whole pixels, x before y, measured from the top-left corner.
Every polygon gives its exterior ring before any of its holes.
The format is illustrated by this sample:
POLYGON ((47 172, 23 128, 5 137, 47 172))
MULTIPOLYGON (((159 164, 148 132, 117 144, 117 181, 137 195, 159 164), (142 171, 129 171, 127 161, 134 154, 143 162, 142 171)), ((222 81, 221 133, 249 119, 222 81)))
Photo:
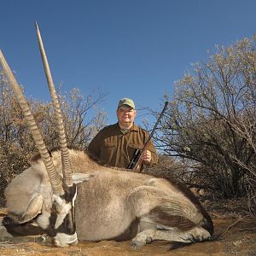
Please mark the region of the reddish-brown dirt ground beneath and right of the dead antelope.
MULTIPOLYGON (((214 223, 214 236, 224 234, 216 241, 197 242, 185 247, 167 241, 154 241, 134 249, 129 241, 82 242, 77 246, 56 248, 40 242, 38 237, 16 238, 0 242, 0 255, 249 255, 256 256, 256 218, 247 215, 246 201, 209 201, 203 205, 210 212, 214 223)), ((2 211, 3 215, 3 211, 2 211)))

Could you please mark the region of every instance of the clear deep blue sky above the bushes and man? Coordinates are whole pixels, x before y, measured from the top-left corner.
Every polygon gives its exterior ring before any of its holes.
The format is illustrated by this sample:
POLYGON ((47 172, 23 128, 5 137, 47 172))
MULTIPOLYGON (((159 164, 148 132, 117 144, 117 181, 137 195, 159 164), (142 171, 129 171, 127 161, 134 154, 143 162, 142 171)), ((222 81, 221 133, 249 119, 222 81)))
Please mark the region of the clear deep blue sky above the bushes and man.
POLYGON ((1 0, 0 8, 0 48, 26 96, 49 100, 37 20, 55 85, 108 93, 100 107, 109 124, 119 98, 134 99, 138 115, 160 111, 191 63, 256 33, 254 0, 1 0))

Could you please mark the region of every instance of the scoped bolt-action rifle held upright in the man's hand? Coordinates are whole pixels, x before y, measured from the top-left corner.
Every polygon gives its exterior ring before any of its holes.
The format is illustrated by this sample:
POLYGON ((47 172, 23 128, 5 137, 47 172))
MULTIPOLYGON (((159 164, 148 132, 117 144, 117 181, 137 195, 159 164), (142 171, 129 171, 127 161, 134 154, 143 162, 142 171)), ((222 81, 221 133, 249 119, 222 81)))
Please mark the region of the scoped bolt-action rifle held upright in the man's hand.
POLYGON ((163 114, 165 113, 166 109, 168 107, 168 102, 165 103, 165 107, 163 108, 162 112, 160 113, 158 119, 156 120, 155 124, 154 124, 154 127, 145 143, 145 145, 143 146, 143 149, 140 150, 140 149, 135 149, 134 153, 133 153, 133 156, 132 156, 132 159, 127 167, 127 169, 131 169, 135 172, 141 172, 140 171, 140 168, 143 164, 141 158, 142 158, 142 155, 144 153, 145 150, 147 150, 148 148, 148 145, 149 145, 149 142, 151 140, 151 137, 153 137, 153 134, 154 134, 154 131, 157 127, 157 125, 159 124, 160 122, 160 119, 162 118, 163 114))

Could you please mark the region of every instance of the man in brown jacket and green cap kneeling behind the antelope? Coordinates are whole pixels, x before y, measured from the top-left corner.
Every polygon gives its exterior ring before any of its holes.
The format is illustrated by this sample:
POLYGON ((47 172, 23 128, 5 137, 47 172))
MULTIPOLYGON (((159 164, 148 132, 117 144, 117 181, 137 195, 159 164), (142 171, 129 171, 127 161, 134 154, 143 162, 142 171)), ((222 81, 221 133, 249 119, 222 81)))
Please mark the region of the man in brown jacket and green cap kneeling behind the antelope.
MULTIPOLYGON (((108 125, 98 132, 89 145, 89 153, 102 164, 127 168, 136 149, 143 149, 148 132, 135 125, 136 109, 129 98, 119 100, 116 111, 118 123, 108 125)), ((158 157, 150 141, 142 155, 143 166, 153 166, 158 157)))

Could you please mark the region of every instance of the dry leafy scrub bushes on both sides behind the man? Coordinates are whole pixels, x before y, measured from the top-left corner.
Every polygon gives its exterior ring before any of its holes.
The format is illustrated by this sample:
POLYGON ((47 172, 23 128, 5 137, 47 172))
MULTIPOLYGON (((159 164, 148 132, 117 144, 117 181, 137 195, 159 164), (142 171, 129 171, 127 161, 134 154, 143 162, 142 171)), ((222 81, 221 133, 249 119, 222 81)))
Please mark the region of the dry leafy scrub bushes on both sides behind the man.
MULTIPOLYGON (((206 63, 195 63, 175 84, 170 108, 154 144, 160 163, 147 172, 176 177, 221 198, 247 197, 256 208, 256 37, 217 47, 206 63)), ((61 94, 69 145, 86 149, 106 125, 99 105, 107 95, 61 94)), ((51 103, 29 99, 49 148, 57 145, 51 103)), ((151 111, 157 116, 159 113, 151 111)), ((34 143, 9 84, 0 73, 0 199, 10 180, 28 166, 34 143)))

